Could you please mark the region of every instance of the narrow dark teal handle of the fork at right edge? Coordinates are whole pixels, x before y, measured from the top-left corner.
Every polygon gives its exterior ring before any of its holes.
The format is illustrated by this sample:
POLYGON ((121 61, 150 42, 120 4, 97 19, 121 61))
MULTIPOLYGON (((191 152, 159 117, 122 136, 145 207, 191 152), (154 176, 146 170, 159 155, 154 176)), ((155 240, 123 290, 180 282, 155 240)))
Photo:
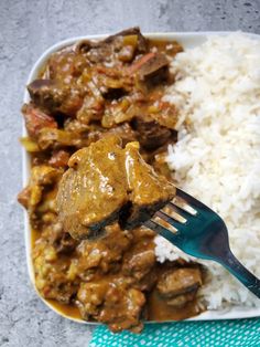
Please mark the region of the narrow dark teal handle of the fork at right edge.
POLYGON ((219 259, 218 262, 260 298, 260 281, 236 259, 231 251, 225 257, 219 259))

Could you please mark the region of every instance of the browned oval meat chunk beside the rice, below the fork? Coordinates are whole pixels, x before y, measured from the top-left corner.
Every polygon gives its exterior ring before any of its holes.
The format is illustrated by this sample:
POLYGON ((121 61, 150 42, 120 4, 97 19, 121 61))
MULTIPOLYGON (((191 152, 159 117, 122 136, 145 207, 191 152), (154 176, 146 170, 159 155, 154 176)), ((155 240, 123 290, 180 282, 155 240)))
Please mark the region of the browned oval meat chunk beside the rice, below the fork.
POLYGON ((164 297, 183 295, 202 285, 202 273, 197 267, 181 267, 165 272, 158 282, 159 293, 164 297))

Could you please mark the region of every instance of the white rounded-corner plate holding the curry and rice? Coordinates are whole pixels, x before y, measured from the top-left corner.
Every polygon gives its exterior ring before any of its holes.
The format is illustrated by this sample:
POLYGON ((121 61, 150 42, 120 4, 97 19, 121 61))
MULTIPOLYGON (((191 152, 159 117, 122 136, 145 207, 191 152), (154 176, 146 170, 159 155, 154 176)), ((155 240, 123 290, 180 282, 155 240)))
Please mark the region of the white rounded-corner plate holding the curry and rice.
MULTIPOLYGON (((206 41, 207 36, 209 35, 226 35, 230 32, 178 32, 178 33, 147 33, 145 36, 150 39, 165 39, 165 40, 176 40, 178 41, 184 49, 191 49, 195 48, 203 42, 206 41)), ((247 33, 247 35, 254 38, 257 40, 260 40, 260 35, 247 33)), ((89 36, 78 36, 78 38, 72 38, 68 40, 61 41, 54 45, 52 45, 50 49, 47 49, 36 61, 34 66, 31 70, 31 73, 28 78, 28 84, 30 84, 33 80, 36 78, 39 72, 41 71, 41 67, 48 59, 50 54, 53 52, 68 45, 73 44, 78 40, 87 39, 87 40, 99 40, 106 38, 107 34, 104 35, 89 35, 89 36)), ((28 103, 30 101, 29 93, 25 90, 23 102, 28 103)), ((23 127, 23 136, 26 136, 26 129, 23 127)), ((25 149, 22 149, 22 156, 23 156, 23 186, 25 187, 30 177, 30 159, 25 151, 25 149)), ((24 232, 25 232, 25 248, 26 248, 26 261, 28 261, 28 270, 30 278, 34 285, 34 288, 37 293, 37 290, 35 287, 35 278, 34 278, 34 271, 33 271, 33 264, 32 264, 32 257, 31 257, 31 229, 29 223, 29 218, 26 211, 24 211, 24 232)), ((82 324, 90 324, 96 325, 99 323, 90 323, 90 322, 84 322, 77 318, 72 318, 69 316, 66 316, 65 314, 61 313, 56 307, 52 306, 47 301, 45 301, 39 293, 37 295, 41 297, 41 299, 54 312, 57 314, 82 324)), ((219 311, 207 311, 194 318, 189 318, 187 320, 209 320, 209 319, 235 319, 235 318, 249 318, 249 317, 258 317, 260 316, 260 308, 250 308, 250 307, 241 307, 241 306, 234 306, 228 309, 219 309, 219 311)))

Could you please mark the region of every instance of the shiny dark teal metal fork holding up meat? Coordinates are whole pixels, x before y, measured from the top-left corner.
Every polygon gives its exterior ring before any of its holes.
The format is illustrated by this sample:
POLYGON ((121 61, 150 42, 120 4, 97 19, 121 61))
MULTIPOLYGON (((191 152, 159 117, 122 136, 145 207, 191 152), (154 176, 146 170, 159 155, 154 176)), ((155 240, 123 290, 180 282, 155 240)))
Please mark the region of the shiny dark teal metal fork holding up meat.
POLYGON ((144 225, 192 256, 220 263, 260 298, 260 280, 232 254, 225 222, 206 204, 177 188, 176 197, 144 225))

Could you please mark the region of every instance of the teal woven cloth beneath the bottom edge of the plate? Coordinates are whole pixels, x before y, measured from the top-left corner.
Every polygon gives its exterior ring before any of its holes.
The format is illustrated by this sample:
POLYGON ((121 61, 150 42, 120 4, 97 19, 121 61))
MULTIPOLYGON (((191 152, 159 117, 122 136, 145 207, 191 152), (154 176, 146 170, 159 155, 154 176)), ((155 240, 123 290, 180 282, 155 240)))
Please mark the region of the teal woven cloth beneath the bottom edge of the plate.
POLYGON ((145 325, 137 335, 95 329, 90 347, 259 347, 260 319, 175 322, 145 325))

